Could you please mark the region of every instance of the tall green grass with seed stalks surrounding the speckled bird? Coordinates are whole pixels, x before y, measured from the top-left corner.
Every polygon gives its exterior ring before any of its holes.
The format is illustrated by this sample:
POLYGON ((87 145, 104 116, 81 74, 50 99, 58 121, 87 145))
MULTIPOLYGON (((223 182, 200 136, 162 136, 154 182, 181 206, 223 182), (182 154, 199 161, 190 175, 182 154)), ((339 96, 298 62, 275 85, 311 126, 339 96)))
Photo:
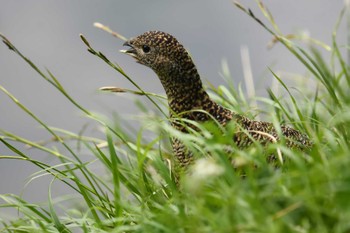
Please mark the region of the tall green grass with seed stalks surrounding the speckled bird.
MULTIPOLYGON (((345 9, 332 35, 331 61, 325 61, 316 48, 302 48, 292 37, 281 34, 267 8, 259 1, 258 4, 268 25, 249 9, 238 3, 236 6, 271 33, 275 42, 282 43, 290 51, 291 59, 295 57, 304 65, 316 89, 300 87, 293 91, 284 83, 283 76, 271 70, 288 98, 268 90, 269 98, 256 100, 272 110, 266 117, 276 126, 288 123, 310 136, 314 147, 307 153, 290 150, 284 142, 268 148, 257 143, 247 150, 234 150, 229 157, 227 148, 235 148, 230 129, 204 124, 197 125, 200 131, 191 134, 174 130, 163 112, 164 99, 144 92, 120 66, 81 36, 90 53, 128 79, 138 89, 137 93, 146 95, 159 109, 159 116, 143 119, 139 132, 130 133, 119 123, 108 123, 77 103, 50 71, 39 69, 1 35, 9 49, 105 130, 105 138, 91 138, 50 127, 0 86, 14 104, 52 135, 54 144, 63 148, 57 150, 52 143, 41 144, 0 130, 0 142, 11 151, 9 155, 0 155, 1 162, 17 159, 32 163, 39 171, 33 179, 48 174, 52 177, 51 185, 62 182, 72 190, 71 196, 54 199, 50 186, 47 203, 40 205, 14 194, 1 194, 5 204, 0 208, 19 212, 15 219, 1 221, 1 231, 350 232, 350 74, 342 55, 344 47, 336 42, 345 9), (150 133, 151 139, 144 136, 150 133), (182 175, 180 184, 174 181, 169 135, 181 137, 198 157, 190 171, 182 175), (94 156, 94 161, 80 160, 80 152, 67 139, 79 142, 94 156), (50 165, 34 160, 13 142, 43 151, 59 163, 50 165), (262 156, 266 151, 276 150, 289 158, 278 169, 262 156), (231 164, 232 157, 236 168, 231 164), (109 178, 94 173, 92 162, 103 166, 109 178)), ((227 80, 231 78, 227 68, 223 74, 227 80)), ((253 117, 240 88, 237 90, 230 83, 228 87, 209 89, 216 101, 253 117)))

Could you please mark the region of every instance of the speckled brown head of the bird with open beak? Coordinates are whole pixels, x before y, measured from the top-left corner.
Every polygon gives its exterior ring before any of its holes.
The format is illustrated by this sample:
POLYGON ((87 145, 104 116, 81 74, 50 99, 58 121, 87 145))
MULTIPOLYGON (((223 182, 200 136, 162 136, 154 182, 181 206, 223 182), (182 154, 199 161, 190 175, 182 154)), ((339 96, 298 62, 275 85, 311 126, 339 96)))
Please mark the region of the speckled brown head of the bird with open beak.
POLYGON ((145 32, 126 41, 124 46, 130 48, 122 52, 135 58, 138 63, 150 67, 161 76, 192 68, 189 67, 193 63, 187 51, 175 37, 165 32, 145 32))

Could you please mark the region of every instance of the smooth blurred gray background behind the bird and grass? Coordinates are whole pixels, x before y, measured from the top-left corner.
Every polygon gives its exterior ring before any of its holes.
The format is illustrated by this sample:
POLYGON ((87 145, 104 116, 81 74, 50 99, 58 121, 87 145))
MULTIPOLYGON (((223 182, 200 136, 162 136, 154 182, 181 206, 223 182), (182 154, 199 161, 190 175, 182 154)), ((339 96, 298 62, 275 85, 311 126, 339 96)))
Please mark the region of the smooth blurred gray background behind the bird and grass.
MULTIPOLYGON (((304 32, 326 44, 331 44, 332 30, 344 6, 342 0, 263 2, 283 33, 304 32)), ((263 19, 255 1, 242 0, 241 3, 263 19)), ((230 0, 0 0, 0 32, 40 68, 48 68, 78 103, 107 117, 112 117, 113 112, 124 118, 137 115, 133 102, 135 98, 142 97, 97 92, 99 87, 108 85, 133 87, 120 74, 88 53, 79 34, 84 34, 94 48, 120 64, 144 90, 163 93, 160 82, 150 69, 119 53, 118 50, 123 49, 122 41, 94 28, 94 22, 108 25, 126 37, 152 29, 175 35, 191 52, 203 81, 210 81, 215 86, 224 82, 219 75, 223 59, 228 62, 235 85, 242 82, 242 46, 249 49, 255 85, 261 94, 271 84, 268 67, 275 71, 305 73, 296 58, 283 46, 278 44, 273 49, 267 49, 271 36, 230 0)), ((345 35, 343 23, 338 36, 340 44, 345 44, 345 35)), ((330 57, 330 53, 325 51, 324 54, 330 57)), ((98 135, 97 124, 84 118, 2 43, 0 85, 48 125, 79 132, 84 124, 89 123, 92 124, 90 130, 95 130, 98 135)), ((50 138, 2 92, 0 112, 0 129, 30 140, 50 138)), ((102 137, 103 134, 100 135, 102 137)), ((13 155, 13 152, 0 144, 0 155, 13 155)), ((50 161, 45 154, 33 156, 50 161)), ((28 177, 36 171, 38 168, 27 162, 1 159, 0 194, 22 193, 29 201, 45 201, 50 179, 36 179, 23 188, 28 177)), ((64 192, 64 186, 57 184, 55 190, 59 195, 64 192)))

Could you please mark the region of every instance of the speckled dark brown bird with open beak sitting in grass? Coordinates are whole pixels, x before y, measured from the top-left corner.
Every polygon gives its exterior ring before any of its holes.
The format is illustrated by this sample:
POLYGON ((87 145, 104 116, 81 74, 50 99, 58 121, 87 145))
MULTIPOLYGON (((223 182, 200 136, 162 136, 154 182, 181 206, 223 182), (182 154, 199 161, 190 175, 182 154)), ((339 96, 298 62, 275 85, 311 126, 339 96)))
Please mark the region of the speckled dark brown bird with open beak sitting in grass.
MULTIPOLYGON (((251 120, 213 101, 203 87, 191 56, 171 34, 147 31, 125 41, 123 46, 128 49, 122 52, 151 68, 158 76, 168 99, 170 119, 181 117, 195 122, 215 119, 222 126, 234 122, 238 127, 233 140, 238 148, 249 147, 254 141, 266 144, 280 140, 272 123, 251 120)), ((177 130, 189 133, 188 127, 178 121, 171 124, 177 130)), ((312 145, 307 135, 289 126, 281 125, 280 131, 288 147, 306 150, 312 145)), ((192 164, 193 154, 179 138, 172 138, 172 148, 180 167, 192 164)))

